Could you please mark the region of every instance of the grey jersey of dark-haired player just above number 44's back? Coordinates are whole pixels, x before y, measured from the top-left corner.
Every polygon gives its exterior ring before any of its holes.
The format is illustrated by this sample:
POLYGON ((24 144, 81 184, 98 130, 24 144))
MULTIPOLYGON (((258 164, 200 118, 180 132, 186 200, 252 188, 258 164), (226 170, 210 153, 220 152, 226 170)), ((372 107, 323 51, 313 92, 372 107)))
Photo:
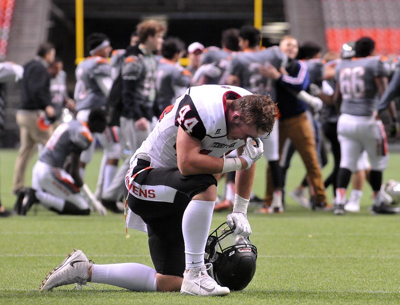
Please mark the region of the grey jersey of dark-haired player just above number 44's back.
POLYGON ((191 74, 181 65, 161 58, 155 70, 155 99, 160 110, 175 102, 190 85, 191 74))

